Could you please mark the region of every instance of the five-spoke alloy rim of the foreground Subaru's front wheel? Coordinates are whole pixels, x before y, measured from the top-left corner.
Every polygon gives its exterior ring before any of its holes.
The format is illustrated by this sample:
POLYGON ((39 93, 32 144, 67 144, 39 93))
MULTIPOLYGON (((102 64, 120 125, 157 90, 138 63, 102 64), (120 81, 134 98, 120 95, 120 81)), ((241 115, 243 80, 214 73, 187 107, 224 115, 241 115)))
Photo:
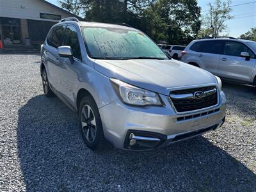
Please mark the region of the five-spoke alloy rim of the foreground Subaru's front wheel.
POLYGON ((81 113, 81 124, 84 137, 88 142, 93 142, 96 138, 96 121, 92 108, 84 105, 81 113))

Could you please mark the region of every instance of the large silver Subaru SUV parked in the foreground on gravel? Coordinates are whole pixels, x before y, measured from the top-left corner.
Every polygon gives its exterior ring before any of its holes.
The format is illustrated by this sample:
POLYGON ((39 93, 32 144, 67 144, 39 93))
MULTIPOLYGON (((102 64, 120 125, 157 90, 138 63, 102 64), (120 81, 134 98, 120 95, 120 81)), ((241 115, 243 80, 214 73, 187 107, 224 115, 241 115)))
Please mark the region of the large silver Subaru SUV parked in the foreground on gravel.
POLYGON ((225 121, 220 79, 168 58, 137 29, 63 19, 41 56, 45 95, 77 111, 92 150, 104 139, 127 150, 164 147, 225 121))

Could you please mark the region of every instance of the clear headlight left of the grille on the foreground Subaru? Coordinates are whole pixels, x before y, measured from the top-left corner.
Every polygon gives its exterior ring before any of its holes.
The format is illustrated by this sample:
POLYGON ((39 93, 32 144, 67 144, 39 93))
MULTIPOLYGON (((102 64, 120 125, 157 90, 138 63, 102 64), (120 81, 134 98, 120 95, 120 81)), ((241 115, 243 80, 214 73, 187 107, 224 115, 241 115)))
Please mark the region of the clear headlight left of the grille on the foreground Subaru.
POLYGON ((132 86, 131 84, 124 83, 118 79, 110 80, 120 99, 127 104, 136 106, 163 105, 157 93, 132 86))

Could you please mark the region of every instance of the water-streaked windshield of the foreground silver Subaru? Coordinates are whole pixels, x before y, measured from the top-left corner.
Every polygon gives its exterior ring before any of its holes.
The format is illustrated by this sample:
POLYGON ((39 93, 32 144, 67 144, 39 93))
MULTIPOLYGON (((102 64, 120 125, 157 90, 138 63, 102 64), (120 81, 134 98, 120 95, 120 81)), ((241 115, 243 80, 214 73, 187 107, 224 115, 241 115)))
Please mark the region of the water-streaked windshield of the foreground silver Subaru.
POLYGON ((168 59, 166 54, 140 31, 103 27, 84 27, 82 31, 92 58, 168 59))

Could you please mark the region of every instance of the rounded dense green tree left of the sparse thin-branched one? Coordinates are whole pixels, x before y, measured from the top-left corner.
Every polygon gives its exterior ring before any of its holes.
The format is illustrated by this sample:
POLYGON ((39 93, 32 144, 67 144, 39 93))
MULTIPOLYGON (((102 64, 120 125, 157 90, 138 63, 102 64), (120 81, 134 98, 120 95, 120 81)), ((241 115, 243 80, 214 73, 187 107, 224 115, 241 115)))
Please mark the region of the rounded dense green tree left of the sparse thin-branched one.
POLYGON ((159 0, 145 10, 143 29, 154 40, 188 44, 200 29, 200 7, 196 0, 159 0))

